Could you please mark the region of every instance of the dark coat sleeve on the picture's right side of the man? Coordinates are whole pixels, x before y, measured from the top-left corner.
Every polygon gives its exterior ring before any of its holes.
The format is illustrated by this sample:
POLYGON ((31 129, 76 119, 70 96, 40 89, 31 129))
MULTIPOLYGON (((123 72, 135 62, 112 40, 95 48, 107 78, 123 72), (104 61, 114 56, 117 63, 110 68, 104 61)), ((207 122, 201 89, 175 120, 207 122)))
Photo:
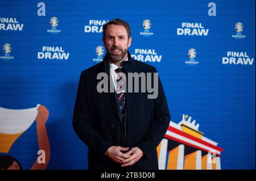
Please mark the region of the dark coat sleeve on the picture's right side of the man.
MULTIPOLYGON (((155 68, 154 73, 157 73, 155 68)), ((158 77, 158 96, 154 99, 153 119, 146 136, 141 144, 138 145, 138 148, 143 151, 146 157, 150 157, 152 151, 155 151, 160 141, 162 141, 170 124, 170 119, 171 115, 168 109, 166 96, 160 78, 158 77)))

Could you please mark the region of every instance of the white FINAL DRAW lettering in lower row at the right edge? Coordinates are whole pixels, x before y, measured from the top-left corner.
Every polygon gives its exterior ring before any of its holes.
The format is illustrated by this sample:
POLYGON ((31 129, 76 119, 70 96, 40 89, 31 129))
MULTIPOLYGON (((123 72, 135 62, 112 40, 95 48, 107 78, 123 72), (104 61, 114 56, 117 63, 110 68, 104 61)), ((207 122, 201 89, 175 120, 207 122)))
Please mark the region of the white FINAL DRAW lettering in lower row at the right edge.
POLYGON ((247 52, 227 52, 226 57, 222 57, 222 64, 225 65, 253 65, 254 58, 250 58, 247 52))

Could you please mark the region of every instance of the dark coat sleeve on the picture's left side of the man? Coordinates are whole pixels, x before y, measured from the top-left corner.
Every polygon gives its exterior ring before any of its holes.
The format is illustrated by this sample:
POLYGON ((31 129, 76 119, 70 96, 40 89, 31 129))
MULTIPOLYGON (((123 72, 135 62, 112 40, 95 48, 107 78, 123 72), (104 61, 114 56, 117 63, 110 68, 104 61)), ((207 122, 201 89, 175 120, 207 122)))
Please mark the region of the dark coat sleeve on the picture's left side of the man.
POLYGON ((85 71, 82 71, 77 89, 75 107, 73 110, 73 129, 77 136, 93 153, 103 157, 106 150, 112 145, 105 141, 101 134, 93 128, 93 120, 90 120, 88 113, 88 100, 86 96, 84 74, 85 71))

